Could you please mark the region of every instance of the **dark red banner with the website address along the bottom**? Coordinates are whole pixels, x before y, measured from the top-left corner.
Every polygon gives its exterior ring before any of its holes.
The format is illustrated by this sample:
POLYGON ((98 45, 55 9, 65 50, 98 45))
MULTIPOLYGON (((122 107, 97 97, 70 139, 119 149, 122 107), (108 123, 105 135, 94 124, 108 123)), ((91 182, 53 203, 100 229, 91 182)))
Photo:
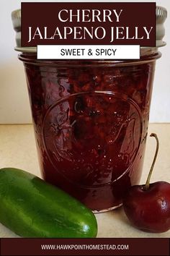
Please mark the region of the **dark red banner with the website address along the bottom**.
POLYGON ((1 239, 1 255, 169 255, 169 239, 1 239))

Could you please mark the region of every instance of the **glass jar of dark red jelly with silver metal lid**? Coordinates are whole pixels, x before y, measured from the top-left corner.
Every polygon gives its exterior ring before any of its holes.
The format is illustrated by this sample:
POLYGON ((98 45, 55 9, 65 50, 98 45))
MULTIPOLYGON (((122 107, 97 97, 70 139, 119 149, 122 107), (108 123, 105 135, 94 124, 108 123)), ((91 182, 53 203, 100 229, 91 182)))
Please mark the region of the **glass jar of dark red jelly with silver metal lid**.
POLYGON ((140 180, 165 19, 157 7, 156 48, 141 48, 140 60, 48 61, 20 47, 21 12, 12 13, 42 176, 94 212, 120 206, 140 180))

